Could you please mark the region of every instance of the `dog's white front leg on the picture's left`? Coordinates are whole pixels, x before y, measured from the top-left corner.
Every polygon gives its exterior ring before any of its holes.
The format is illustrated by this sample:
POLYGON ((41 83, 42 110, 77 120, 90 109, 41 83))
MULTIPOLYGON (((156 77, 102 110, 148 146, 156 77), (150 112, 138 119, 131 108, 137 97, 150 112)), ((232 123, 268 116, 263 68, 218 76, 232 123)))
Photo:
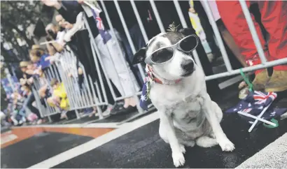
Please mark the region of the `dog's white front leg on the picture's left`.
POLYGON ((169 142, 169 145, 172 149, 172 159, 174 161, 174 166, 183 166, 183 164, 186 162, 183 156, 185 149, 183 145, 179 144, 179 140, 176 138, 172 117, 168 116, 165 112, 160 112, 160 125, 160 127, 165 130, 164 140, 169 142))

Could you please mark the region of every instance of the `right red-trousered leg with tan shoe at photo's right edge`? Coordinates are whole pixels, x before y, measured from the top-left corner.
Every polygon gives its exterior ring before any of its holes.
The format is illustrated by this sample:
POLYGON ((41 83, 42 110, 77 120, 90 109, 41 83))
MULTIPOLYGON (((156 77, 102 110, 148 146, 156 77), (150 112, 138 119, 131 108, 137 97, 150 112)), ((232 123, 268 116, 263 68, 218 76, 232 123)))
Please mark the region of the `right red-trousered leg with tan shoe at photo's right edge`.
MULTIPOLYGON (((269 33, 270 60, 287 57, 287 1, 259 1, 262 24, 269 33)), ((273 67, 273 74, 265 91, 287 89, 287 65, 273 67)))

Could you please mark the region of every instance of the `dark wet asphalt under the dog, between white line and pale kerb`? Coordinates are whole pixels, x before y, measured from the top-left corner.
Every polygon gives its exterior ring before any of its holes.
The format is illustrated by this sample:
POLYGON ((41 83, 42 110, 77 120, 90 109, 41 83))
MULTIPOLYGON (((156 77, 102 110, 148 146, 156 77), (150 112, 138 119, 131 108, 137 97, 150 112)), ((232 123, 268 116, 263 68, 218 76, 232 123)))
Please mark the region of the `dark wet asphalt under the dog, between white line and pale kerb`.
MULTIPOLYGON (((287 131, 285 120, 278 128, 258 126, 248 133, 249 124, 237 115, 225 115, 221 125, 235 151, 222 152, 219 146, 187 148, 183 168, 235 168, 287 131)), ((158 126, 158 121, 142 126, 54 168, 174 168, 171 149, 158 135, 158 126)))

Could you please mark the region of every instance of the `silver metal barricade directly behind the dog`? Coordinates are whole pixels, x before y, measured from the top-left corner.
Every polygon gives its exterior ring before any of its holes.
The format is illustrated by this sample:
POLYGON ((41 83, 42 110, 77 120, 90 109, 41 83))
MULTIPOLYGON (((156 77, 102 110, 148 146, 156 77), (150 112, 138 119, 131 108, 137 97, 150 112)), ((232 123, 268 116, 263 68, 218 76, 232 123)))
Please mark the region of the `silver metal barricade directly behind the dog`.
MULTIPOLYGON (((127 29, 127 25, 125 23, 125 18, 123 17, 123 14, 122 14, 122 12, 120 10, 120 6, 118 5, 118 1, 116 1, 116 0, 113 0, 113 1, 115 3, 116 10, 118 11, 118 15, 120 17, 120 21, 123 24, 123 28, 125 30, 125 34, 127 36, 127 40, 130 43, 130 47, 132 48, 132 53, 134 54, 137 51, 135 51, 134 43, 133 43, 132 38, 130 36, 129 30, 127 29)), ((115 32, 113 31, 113 24, 112 24, 111 19, 109 17, 109 12, 106 9, 104 1, 100 0, 100 2, 102 4, 102 10, 103 10, 103 12, 106 15, 106 20, 107 20, 107 22, 109 24, 109 27, 110 27, 113 35, 115 36, 115 32)), ((134 10, 134 15, 137 17, 139 28, 141 29, 141 34, 144 36, 144 41, 147 43, 148 42, 148 36, 146 34, 146 30, 144 28, 144 24, 141 21, 141 18, 139 16, 139 12, 137 10, 137 6, 135 5, 134 0, 130 0, 130 3, 132 4, 132 8, 134 10)), ((153 9, 153 13, 155 14, 155 20, 158 22, 158 26, 160 28, 160 31, 162 33, 165 33, 165 28, 164 28, 164 26, 162 24, 162 20, 160 18, 160 14, 158 13, 158 9, 157 9, 157 7, 155 5, 155 1, 150 0, 150 3, 151 3, 151 7, 153 9)), ((207 1, 203 1, 203 3, 204 3, 203 5, 207 7, 207 11, 206 11, 207 12, 207 16, 209 17, 209 20, 211 21, 211 26, 214 29, 214 34, 215 34, 216 40, 218 42, 218 47, 221 50, 223 61, 224 61, 225 66, 227 68, 227 72, 218 73, 218 74, 214 74, 214 75, 207 75, 206 76, 206 80, 213 80, 213 79, 216 79, 216 78, 223 78, 223 77, 226 77, 226 76, 239 74, 240 73, 240 69, 232 70, 232 66, 230 64, 230 60, 228 58, 228 54, 227 54, 227 52, 225 50, 225 47, 223 45, 223 40, 222 40, 221 35, 220 35, 219 31, 218 31, 218 27, 216 26, 216 22, 214 21, 214 18, 213 18, 213 15, 211 13, 211 9, 209 8, 208 2, 207 1)), ((287 58, 285 58, 285 59, 278 59, 276 61, 267 61, 266 60, 264 52, 262 50, 262 46, 260 45, 260 41, 258 39, 258 35, 256 34, 253 22, 251 20, 250 13, 249 13, 248 8, 246 6, 246 2, 245 1, 240 1, 240 3, 241 3, 241 7, 242 7, 242 9, 244 11, 244 15, 246 17, 246 20, 248 22, 248 26, 249 26, 249 28, 251 30, 252 35, 253 35, 253 40, 254 40, 254 43, 255 43, 255 45, 257 47, 258 54, 259 54, 260 59, 262 61, 262 64, 259 64, 259 65, 256 65, 256 66, 249 66, 249 67, 246 67, 246 68, 242 68, 241 70, 243 72, 248 72, 248 71, 254 71, 254 70, 257 70, 257 69, 260 69, 260 68, 267 68, 267 67, 270 67, 270 66, 275 66, 275 65, 278 65, 278 64, 286 64, 287 63, 287 58)), ((179 6, 179 1, 178 0, 174 0, 174 6, 175 6, 176 11, 177 11, 177 13, 179 15, 179 19, 181 21, 181 25, 183 26, 183 28, 188 27, 187 26, 188 24, 186 23, 186 20, 183 17, 183 12, 181 10, 181 7, 179 6)), ((96 43, 94 43, 94 39, 92 38, 92 32, 90 31, 90 27, 88 26, 86 21, 85 21, 85 24, 86 24, 86 27, 87 27, 89 33, 90 33, 90 37, 91 37, 91 42, 92 42, 93 48, 94 48, 94 50, 97 53, 97 57, 99 59, 100 64, 103 66, 103 64, 101 63, 101 57, 99 57, 99 49, 97 49, 97 45, 96 45, 96 43)), ((195 58, 195 62, 197 63, 197 65, 202 68, 202 63, 200 62, 200 58, 199 58, 196 50, 193 51, 193 56, 195 58)), ((123 58, 123 57, 121 57, 121 58, 123 58)), ((144 78, 144 73, 142 72, 143 68, 141 68, 140 64, 138 64, 138 66, 139 66, 139 70, 141 71, 142 78, 144 78)), ((110 89, 111 89, 111 87, 110 87, 110 89)), ((111 89, 111 90, 113 90, 113 89, 111 89)), ((123 99, 123 98, 125 98, 127 96, 116 98, 113 95, 113 97, 117 101, 117 100, 123 99)), ((137 98, 137 97, 135 96, 135 98, 137 98)), ((144 114, 144 112, 141 110, 141 108, 138 108, 138 110, 139 110, 139 115, 143 115, 144 114)), ((130 119, 127 119, 124 122, 129 122, 130 120, 132 120, 134 118, 137 118, 139 115, 137 115, 135 117, 132 117, 130 119)))

